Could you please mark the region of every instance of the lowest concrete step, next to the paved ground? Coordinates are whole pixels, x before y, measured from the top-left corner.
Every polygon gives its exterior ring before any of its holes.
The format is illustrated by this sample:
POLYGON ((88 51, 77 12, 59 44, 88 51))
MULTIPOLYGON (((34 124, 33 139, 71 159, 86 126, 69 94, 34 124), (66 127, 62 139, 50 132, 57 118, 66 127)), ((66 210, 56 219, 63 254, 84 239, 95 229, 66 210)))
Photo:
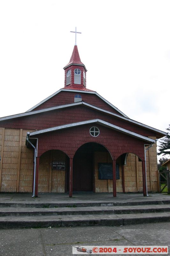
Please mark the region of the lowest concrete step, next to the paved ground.
POLYGON ((50 228, 92 225, 121 226, 161 221, 170 221, 170 212, 20 217, 6 216, 0 217, 0 228, 50 228))

